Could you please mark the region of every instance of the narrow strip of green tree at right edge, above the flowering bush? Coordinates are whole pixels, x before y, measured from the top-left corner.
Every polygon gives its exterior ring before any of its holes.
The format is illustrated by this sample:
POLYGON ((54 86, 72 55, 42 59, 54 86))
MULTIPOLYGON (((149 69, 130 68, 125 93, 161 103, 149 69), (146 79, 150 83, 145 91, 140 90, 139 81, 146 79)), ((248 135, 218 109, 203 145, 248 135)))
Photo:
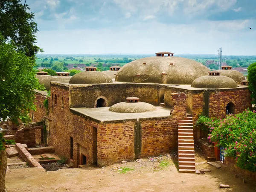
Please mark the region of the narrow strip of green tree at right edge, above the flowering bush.
POLYGON ((248 67, 249 89, 252 92, 253 104, 256 104, 256 63, 250 64, 248 67))

